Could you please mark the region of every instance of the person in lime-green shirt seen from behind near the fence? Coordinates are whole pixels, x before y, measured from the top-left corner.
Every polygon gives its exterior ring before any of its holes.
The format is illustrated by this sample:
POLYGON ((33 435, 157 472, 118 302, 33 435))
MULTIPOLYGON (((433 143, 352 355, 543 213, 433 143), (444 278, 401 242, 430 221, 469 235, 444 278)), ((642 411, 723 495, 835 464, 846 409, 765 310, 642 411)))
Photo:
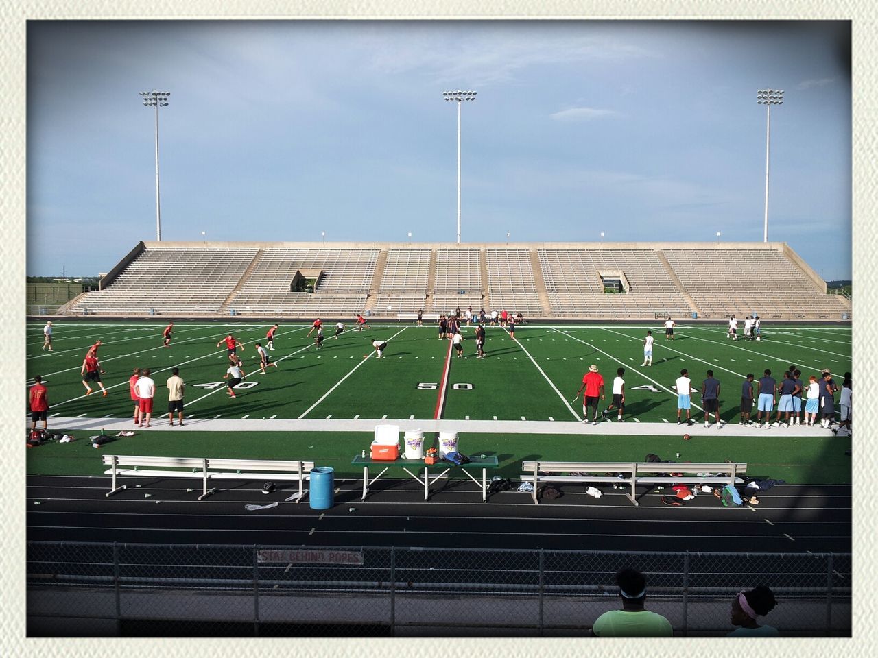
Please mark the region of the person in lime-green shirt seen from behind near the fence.
POLYGON ((604 612, 594 620, 592 634, 600 638, 657 638, 671 637, 673 626, 662 615, 644 609, 646 578, 626 567, 616 572, 622 610, 604 612))

